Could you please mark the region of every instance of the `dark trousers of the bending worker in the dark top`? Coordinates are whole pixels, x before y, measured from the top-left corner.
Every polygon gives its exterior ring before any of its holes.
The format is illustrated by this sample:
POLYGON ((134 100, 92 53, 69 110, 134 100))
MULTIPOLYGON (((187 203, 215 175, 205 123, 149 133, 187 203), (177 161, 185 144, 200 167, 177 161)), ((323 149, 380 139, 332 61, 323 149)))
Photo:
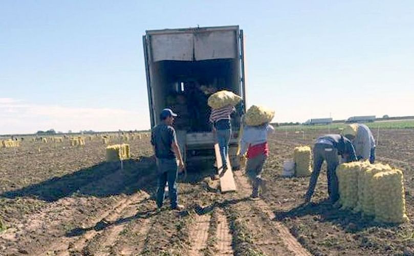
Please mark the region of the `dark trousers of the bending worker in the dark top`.
POLYGON ((339 165, 338 150, 328 144, 317 143, 313 148, 313 172, 311 180, 309 181, 309 189, 306 197, 309 199, 312 198, 324 160, 328 165, 328 172, 326 174, 328 176, 329 199, 331 202, 336 202, 339 199, 338 177, 336 176, 336 167, 339 165))

